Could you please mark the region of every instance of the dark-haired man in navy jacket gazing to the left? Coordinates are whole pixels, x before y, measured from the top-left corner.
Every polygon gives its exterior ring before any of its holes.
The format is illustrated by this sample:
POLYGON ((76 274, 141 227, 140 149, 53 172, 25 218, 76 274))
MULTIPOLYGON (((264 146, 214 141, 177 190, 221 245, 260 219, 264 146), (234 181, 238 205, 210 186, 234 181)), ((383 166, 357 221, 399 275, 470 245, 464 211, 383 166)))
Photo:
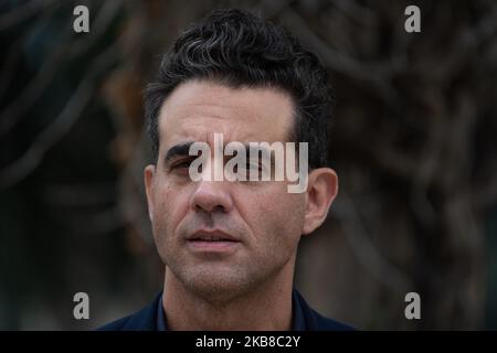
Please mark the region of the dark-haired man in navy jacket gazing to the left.
MULTIPOLYGON (((322 224, 338 191, 327 168, 331 89, 318 58, 281 26, 216 11, 177 40, 145 98, 154 152, 145 185, 163 292, 103 329, 349 329, 293 289, 300 236, 322 224), (214 153, 220 135, 223 145, 308 143, 307 188, 288 192, 287 178, 192 180, 191 147, 214 153)), ((215 163, 202 164, 201 174, 215 163)))

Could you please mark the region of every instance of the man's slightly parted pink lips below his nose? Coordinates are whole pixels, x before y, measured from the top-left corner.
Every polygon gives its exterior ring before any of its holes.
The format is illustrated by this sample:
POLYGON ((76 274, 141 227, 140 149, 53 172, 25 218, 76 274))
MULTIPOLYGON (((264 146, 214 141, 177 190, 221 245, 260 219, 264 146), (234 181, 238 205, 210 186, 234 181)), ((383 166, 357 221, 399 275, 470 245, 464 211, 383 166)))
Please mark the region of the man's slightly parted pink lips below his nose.
POLYGON ((219 229, 200 229, 188 236, 187 243, 194 252, 226 253, 234 250, 241 242, 231 234, 219 229))

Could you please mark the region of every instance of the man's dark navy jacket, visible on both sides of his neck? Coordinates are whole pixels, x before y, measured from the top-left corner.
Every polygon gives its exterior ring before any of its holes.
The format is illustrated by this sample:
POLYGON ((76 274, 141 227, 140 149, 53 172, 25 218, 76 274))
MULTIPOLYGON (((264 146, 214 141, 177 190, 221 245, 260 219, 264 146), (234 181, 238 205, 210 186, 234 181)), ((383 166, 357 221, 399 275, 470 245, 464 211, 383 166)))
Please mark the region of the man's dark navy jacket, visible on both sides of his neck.
MULTIPOLYGON (((140 311, 110 322, 99 331, 158 331, 158 314, 162 312, 162 293, 140 311), (160 307, 159 307, 160 306, 160 307)), ((307 331, 347 331, 352 328, 338 321, 325 318, 310 308, 297 290, 292 296, 294 309, 294 330, 307 331), (298 317, 298 319, 296 319, 298 317), (298 320, 296 323, 295 320, 298 320)))

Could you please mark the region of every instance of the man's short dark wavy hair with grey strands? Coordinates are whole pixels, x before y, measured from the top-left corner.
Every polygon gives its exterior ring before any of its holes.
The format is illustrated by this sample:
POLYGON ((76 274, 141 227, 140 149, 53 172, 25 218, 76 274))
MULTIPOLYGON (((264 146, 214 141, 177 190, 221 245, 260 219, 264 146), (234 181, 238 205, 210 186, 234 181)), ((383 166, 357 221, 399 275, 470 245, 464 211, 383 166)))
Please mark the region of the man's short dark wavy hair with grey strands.
POLYGON ((178 38, 165 54, 156 82, 145 89, 154 163, 159 149, 160 108, 179 84, 190 79, 288 93, 296 110, 290 139, 309 143, 310 169, 328 164, 334 103, 328 75, 318 57, 283 26, 246 11, 218 10, 178 38))

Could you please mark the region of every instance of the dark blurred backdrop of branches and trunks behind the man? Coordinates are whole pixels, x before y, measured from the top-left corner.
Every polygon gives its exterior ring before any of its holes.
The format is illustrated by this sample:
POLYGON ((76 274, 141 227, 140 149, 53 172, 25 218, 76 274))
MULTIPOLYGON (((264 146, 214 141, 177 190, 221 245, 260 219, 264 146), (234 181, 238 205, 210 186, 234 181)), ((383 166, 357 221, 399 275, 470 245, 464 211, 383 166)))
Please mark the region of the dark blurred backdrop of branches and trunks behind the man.
POLYGON ((494 0, 1 0, 0 329, 95 329, 161 289, 141 89, 188 24, 228 7, 285 24, 337 93, 340 192, 302 242, 304 297, 360 329, 496 330, 494 0), (89 33, 73 31, 78 4, 89 33), (80 291, 89 320, 73 317, 80 291))

